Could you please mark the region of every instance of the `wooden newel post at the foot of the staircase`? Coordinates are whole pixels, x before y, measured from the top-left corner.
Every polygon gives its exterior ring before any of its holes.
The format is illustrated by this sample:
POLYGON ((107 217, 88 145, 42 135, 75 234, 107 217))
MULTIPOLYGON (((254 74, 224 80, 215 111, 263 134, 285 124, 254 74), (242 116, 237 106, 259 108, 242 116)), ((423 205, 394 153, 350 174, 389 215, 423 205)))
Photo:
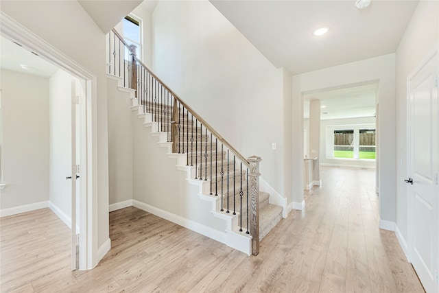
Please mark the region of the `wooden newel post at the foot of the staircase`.
POLYGON ((259 156, 250 156, 247 159, 250 163, 249 176, 249 196, 250 196, 250 235, 252 235, 252 255, 259 254, 259 156))

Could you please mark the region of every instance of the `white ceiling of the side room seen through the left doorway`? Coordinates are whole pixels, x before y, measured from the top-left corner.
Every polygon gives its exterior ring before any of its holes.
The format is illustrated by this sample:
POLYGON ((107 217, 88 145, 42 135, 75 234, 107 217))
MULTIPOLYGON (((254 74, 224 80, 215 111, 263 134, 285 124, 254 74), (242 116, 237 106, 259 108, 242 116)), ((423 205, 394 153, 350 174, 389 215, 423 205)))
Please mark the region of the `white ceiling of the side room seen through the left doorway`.
POLYGON ((0 68, 45 78, 51 77, 58 70, 58 67, 3 36, 0 36, 0 68), (29 70, 23 69, 20 65, 27 65, 29 70))

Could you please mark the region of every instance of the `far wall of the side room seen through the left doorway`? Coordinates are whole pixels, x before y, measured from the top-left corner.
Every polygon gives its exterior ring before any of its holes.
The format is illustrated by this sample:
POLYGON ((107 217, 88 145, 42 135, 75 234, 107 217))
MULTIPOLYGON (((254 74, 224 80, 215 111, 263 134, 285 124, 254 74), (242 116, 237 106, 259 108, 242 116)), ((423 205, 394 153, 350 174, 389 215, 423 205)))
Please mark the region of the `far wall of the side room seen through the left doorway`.
POLYGON ((49 79, 1 69, 0 209, 49 200, 49 79))

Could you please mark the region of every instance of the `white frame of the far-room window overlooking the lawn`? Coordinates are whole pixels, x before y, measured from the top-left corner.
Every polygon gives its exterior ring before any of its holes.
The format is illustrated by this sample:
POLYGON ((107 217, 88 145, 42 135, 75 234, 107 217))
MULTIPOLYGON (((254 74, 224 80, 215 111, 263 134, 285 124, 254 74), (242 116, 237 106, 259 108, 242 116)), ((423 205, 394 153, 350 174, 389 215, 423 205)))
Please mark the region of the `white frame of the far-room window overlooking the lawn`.
MULTIPOLYGON (((327 159, 344 161, 375 161, 376 159, 359 159, 359 130, 377 129, 376 124, 348 124, 348 125, 329 125, 327 126, 327 159), (335 130, 354 130, 354 157, 335 158, 334 157, 334 131, 335 130)), ((375 145, 376 148, 376 145, 375 145)), ((376 149, 375 149, 376 150, 376 149)))

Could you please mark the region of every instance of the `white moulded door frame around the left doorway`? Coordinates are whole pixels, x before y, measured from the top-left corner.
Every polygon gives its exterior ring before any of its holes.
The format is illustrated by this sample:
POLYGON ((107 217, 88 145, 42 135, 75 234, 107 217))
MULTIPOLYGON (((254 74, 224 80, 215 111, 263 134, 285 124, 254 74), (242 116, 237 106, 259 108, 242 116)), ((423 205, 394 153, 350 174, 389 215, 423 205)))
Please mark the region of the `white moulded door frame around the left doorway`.
MULTIPOLYGON (((84 82, 84 99, 78 106, 80 127, 80 270, 97 262, 97 77, 26 27, 0 12, 0 34, 84 82)), ((73 196, 73 195, 72 195, 73 196)))

